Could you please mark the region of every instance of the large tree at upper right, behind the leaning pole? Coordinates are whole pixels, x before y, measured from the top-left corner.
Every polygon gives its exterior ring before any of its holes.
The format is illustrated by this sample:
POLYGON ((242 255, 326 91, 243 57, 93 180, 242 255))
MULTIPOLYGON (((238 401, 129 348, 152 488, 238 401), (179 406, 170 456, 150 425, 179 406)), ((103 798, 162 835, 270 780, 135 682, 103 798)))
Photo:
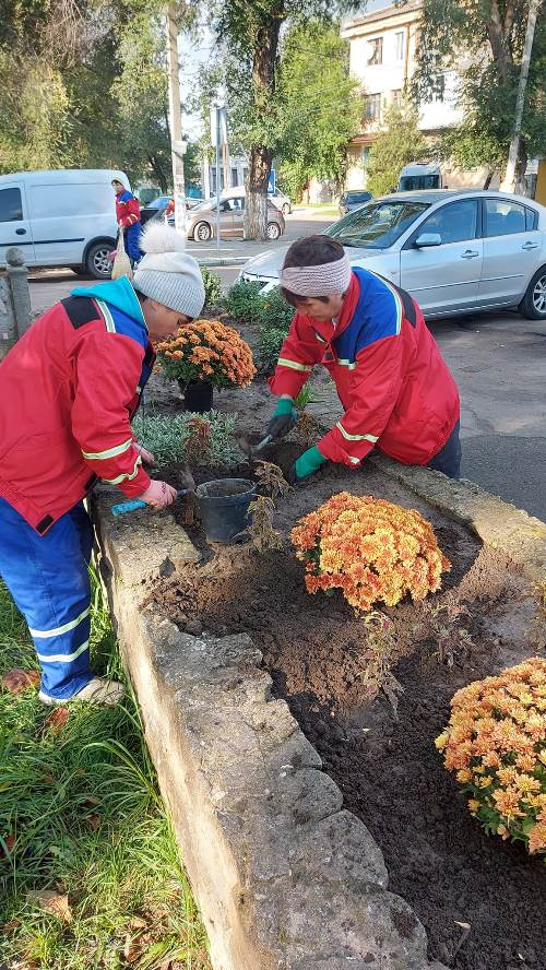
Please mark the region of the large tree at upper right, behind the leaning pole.
MULTIPOLYGON (((407 2, 407 0, 405 0, 407 2)), ((465 120, 448 132, 454 161, 506 163, 513 130, 529 0, 424 0, 413 84, 417 100, 443 92, 446 70, 461 78, 465 120), (460 151, 458 150, 460 146, 460 151)), ((519 177, 529 157, 546 152, 546 17, 536 25, 520 144, 519 177)))

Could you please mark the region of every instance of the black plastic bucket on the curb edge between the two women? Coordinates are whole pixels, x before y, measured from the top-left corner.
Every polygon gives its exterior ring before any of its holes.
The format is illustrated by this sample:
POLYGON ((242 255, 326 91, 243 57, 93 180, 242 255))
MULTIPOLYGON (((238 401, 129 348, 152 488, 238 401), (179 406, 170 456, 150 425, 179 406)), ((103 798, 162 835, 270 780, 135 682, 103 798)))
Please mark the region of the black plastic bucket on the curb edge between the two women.
POLYGON ((230 543, 252 523, 248 507, 256 485, 246 478, 219 478, 198 485, 197 496, 209 542, 230 543))

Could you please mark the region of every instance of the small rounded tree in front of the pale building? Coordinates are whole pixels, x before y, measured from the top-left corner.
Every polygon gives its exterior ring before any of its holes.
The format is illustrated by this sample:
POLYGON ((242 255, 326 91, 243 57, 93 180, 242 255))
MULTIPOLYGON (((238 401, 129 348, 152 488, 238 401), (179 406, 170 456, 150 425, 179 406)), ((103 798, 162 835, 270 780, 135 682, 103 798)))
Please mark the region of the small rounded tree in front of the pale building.
POLYGON ((419 115, 408 105, 393 105, 385 113, 385 130, 370 149, 368 189, 373 196, 392 192, 404 165, 427 154, 427 143, 419 130, 419 115))

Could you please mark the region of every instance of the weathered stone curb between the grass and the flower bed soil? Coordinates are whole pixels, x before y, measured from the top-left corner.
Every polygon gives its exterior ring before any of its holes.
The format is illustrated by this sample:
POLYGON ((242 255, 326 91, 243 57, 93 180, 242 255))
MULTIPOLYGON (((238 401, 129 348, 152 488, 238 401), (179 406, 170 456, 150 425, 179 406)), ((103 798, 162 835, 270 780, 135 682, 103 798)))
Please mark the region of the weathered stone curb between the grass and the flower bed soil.
POLYGON ((250 638, 141 608, 146 579, 199 557, 185 531, 114 500, 93 502, 100 571, 214 970, 446 970, 250 638))

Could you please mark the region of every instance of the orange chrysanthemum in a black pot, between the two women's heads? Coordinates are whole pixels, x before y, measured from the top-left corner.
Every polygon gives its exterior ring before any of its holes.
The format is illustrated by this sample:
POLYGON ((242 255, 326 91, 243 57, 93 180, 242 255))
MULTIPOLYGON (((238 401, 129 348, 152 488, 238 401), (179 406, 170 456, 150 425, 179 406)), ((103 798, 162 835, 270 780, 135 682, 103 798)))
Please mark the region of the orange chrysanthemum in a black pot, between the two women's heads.
POLYGON ((186 411, 200 414, 211 410, 214 388, 245 388, 256 375, 249 345, 219 320, 186 323, 157 345, 157 355, 165 377, 178 381, 186 411))

